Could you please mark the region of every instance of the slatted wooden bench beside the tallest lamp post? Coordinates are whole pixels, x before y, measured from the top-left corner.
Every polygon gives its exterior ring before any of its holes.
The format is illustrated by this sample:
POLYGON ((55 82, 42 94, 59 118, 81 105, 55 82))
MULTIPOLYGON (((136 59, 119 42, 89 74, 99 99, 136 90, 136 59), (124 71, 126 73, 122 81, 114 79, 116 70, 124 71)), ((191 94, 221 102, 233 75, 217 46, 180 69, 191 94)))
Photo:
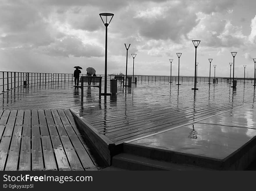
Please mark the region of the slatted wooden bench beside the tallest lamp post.
POLYGON ((99 98, 101 98, 101 80, 102 80, 102 77, 98 77, 98 76, 81 76, 80 77, 79 82, 81 83, 81 85, 77 87, 81 88, 81 101, 83 101, 83 87, 99 88, 99 98), (96 83, 98 85, 95 85, 96 83))

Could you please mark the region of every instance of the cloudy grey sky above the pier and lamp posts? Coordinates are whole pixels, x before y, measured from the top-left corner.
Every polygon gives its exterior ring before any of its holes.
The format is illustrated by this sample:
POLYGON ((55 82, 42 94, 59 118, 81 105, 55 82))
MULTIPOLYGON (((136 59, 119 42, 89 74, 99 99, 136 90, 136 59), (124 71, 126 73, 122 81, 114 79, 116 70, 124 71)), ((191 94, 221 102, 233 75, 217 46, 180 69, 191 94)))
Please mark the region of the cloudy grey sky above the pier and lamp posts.
MULTIPOLYGON (((209 75, 213 58, 216 76, 229 76, 235 57, 235 76, 253 77, 256 58, 256 1, 254 0, 0 0, 1 71, 72 73, 73 66, 94 67, 104 74, 105 27, 99 13, 113 13, 108 27, 108 74, 209 75)), ((85 70, 84 70, 85 71, 85 70)), ((212 73, 214 75, 214 72, 212 73)))

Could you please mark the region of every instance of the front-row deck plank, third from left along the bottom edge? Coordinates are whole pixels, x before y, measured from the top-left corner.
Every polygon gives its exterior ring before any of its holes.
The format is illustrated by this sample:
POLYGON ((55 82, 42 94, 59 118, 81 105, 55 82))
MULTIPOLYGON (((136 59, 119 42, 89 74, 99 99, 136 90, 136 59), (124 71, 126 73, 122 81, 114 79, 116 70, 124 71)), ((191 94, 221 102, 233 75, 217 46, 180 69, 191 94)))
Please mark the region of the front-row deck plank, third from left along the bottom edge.
POLYGON ((22 136, 19 158, 19 170, 31 170, 31 142, 29 136, 22 136))

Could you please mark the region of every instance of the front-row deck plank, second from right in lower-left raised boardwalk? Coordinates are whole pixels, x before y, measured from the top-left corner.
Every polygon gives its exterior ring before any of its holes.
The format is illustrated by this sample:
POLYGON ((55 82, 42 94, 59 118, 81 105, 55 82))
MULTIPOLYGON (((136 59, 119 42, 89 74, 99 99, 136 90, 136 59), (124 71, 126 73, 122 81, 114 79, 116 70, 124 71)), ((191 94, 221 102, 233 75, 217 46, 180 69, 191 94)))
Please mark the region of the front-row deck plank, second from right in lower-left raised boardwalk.
POLYGON ((63 147, 65 149, 68 161, 70 163, 72 170, 79 170, 83 169, 83 166, 81 165, 79 158, 77 156, 77 153, 75 152, 74 147, 72 146, 69 137, 67 135, 61 136, 61 142, 63 144, 63 147))

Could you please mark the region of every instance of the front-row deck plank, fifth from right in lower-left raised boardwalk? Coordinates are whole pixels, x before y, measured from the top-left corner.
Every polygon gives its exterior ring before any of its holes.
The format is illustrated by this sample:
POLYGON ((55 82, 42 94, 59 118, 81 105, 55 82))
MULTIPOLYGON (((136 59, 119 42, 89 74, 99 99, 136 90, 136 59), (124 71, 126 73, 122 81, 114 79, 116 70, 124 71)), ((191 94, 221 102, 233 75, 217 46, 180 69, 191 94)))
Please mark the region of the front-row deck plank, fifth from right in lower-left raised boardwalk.
POLYGON ((32 170, 44 170, 43 161, 41 138, 40 136, 32 136, 32 170))

